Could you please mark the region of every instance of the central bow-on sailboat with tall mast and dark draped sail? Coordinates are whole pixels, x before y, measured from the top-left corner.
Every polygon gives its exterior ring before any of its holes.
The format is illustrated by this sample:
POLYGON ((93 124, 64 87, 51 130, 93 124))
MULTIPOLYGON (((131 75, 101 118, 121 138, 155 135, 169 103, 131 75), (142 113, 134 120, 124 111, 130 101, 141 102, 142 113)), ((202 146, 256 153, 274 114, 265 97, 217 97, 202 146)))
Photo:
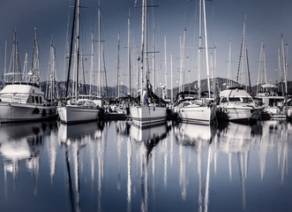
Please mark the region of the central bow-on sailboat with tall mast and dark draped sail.
POLYGON ((134 124, 156 125, 166 121, 167 108, 161 99, 152 91, 147 67, 147 0, 142 0, 142 36, 141 36, 141 72, 140 72, 140 101, 131 106, 130 114, 134 124), (144 44, 145 42, 145 44, 144 44), (144 49, 146 47, 146 49, 144 49), (144 58, 145 57, 145 58, 144 58), (144 67, 144 59, 145 67, 144 67), (145 70, 144 70, 145 68, 145 70))

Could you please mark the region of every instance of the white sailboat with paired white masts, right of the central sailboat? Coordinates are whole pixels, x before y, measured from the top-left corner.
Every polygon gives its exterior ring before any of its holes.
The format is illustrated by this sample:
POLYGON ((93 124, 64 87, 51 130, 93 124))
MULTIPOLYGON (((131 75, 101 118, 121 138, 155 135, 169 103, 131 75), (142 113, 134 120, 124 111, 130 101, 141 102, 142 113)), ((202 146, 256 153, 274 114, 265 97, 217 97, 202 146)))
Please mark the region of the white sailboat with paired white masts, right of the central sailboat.
MULTIPOLYGON (((184 101, 178 107, 178 117, 184 122, 189 122, 193 124, 210 125, 213 123, 215 118, 216 108, 211 102, 211 87, 210 87, 210 77, 209 77, 209 62, 208 62, 208 44, 207 44, 207 34, 206 34, 206 7, 205 0, 199 1, 199 22, 201 22, 202 15, 202 3, 204 11, 204 27, 205 27, 205 45, 206 45, 206 72, 207 72, 207 82, 208 82, 208 95, 209 98, 203 100, 190 100, 184 101)), ((201 43, 201 23, 199 23, 199 48, 198 48, 198 61, 200 60, 200 47, 201 43)), ((200 62, 198 63, 200 64, 200 62)), ((200 72, 200 70, 198 71, 200 72)), ((198 79, 200 80, 200 79, 198 79)), ((200 92, 200 90, 198 90, 200 92)))

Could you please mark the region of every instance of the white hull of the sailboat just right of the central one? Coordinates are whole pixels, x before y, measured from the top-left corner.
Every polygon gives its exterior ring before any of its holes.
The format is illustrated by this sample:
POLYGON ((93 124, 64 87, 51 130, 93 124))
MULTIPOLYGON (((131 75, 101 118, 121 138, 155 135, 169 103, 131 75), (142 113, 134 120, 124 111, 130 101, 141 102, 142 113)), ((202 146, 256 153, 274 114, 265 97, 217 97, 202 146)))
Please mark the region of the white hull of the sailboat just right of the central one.
POLYGON ((210 125, 215 117, 215 108, 208 106, 180 107, 178 117, 183 122, 210 125))

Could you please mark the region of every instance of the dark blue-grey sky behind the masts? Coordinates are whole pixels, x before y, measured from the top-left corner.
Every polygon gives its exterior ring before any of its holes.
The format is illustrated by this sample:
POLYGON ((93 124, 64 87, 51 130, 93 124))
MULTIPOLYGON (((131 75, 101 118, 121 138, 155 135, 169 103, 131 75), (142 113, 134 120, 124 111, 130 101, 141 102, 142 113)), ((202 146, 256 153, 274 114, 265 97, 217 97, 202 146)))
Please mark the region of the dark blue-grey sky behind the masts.
MULTIPOLYGON (((127 17, 131 15, 131 42, 135 49, 132 53, 132 69, 136 70, 136 48, 140 50, 141 8, 134 8, 134 0, 101 0, 101 40, 104 42, 106 68, 109 85, 116 84, 117 34, 121 39, 122 83, 128 84, 127 74, 127 17)), ((138 1, 141 3, 141 0, 138 1)), ((170 79, 170 50, 173 50, 174 79, 178 79, 180 67, 180 36, 186 28, 185 69, 190 70, 190 78, 196 80, 198 72, 198 0, 148 0, 148 4, 159 4, 158 8, 149 8, 149 49, 153 47, 153 27, 155 27, 156 72, 158 83, 163 82, 164 72, 164 35, 167 37, 167 67, 170 79)), ((81 48, 84 55, 91 52, 91 31, 97 40, 98 1, 81 0, 86 7, 81 10, 81 48)), ((64 77, 64 51, 71 0, 0 0, 0 68, 4 72, 4 46, 7 41, 7 65, 10 61, 13 31, 17 29, 19 59, 23 66, 26 49, 29 59, 34 46, 34 28, 38 30, 41 52, 41 79, 45 80, 49 64, 49 42, 52 37, 56 46, 58 79, 64 77)), ((277 79, 277 50, 281 47, 281 34, 284 43, 289 45, 292 39, 292 2, 285 0, 213 0, 206 2, 206 27, 208 46, 217 48, 216 75, 227 76, 228 46, 232 41, 233 79, 236 77, 238 56, 243 34, 243 19, 246 15, 246 43, 249 52, 251 81, 254 85, 258 76, 258 60, 261 41, 266 47, 267 79, 277 79)), ((70 17, 71 18, 71 17, 70 17)), ((71 19, 69 22, 71 28, 71 19)), ((204 42, 203 42, 204 44, 204 42)), ((97 51, 97 43, 95 43, 97 51)), ((210 49, 213 52, 213 49, 210 49)), ((152 57, 149 56, 149 57, 152 57)), ((210 57, 209 57, 210 59, 210 57)), ((150 60, 152 63, 152 59, 150 60)), ((206 78, 206 58, 202 57, 202 77, 206 78)), ((288 62, 288 64, 290 64, 288 62)), ((97 57, 95 58, 97 68, 97 57)), ((152 67, 152 64, 150 64, 152 67)), ((90 57, 87 56, 86 71, 89 72, 90 57)), ((288 66, 289 69, 289 66, 288 66)), ((288 79, 291 74, 288 73, 288 79)), ((188 82, 188 81, 187 81, 188 82)), ((177 86, 175 82, 174 85, 177 86)), ((169 86, 169 82, 168 82, 169 86)))

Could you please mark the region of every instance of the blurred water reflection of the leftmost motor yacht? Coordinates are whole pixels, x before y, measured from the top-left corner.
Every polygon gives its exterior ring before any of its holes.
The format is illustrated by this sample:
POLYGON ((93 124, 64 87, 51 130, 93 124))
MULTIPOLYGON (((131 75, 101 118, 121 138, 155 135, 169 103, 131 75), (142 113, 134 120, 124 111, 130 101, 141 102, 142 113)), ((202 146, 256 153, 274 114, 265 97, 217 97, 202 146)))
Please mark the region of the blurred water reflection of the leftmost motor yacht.
MULTIPOLYGON (((17 189, 19 164, 25 163, 26 170, 34 175, 34 194, 37 193, 37 181, 40 170, 40 154, 43 137, 54 132, 53 123, 7 124, 0 127, 0 152, 4 158, 4 184, 7 187, 7 173, 13 177, 14 190, 17 189)), ((55 163, 54 159, 49 160, 55 163)), ((51 166, 54 174, 54 164, 51 166)))

